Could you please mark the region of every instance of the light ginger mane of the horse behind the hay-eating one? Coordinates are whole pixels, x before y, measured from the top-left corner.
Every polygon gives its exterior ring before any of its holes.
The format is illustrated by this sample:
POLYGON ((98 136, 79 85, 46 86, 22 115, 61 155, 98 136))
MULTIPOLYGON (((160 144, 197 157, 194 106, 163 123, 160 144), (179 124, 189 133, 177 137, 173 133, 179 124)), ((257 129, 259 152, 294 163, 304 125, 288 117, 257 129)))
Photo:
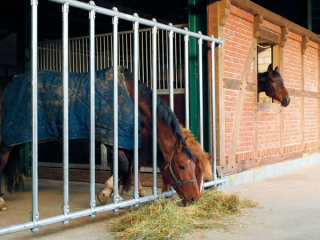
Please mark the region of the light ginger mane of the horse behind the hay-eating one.
POLYGON ((205 152, 190 130, 180 125, 180 130, 196 160, 199 161, 201 174, 205 179, 212 179, 212 156, 205 152))

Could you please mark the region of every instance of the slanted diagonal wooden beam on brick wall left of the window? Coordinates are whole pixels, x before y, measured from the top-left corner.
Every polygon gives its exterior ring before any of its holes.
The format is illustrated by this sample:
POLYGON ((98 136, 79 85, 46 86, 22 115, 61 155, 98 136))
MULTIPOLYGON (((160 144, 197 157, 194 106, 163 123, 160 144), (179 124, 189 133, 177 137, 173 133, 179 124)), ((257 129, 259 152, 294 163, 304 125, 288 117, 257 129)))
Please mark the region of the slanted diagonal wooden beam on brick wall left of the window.
POLYGON ((239 89, 239 96, 236 105, 236 111, 233 120, 233 128, 231 133, 231 142, 230 142, 230 149, 228 154, 229 162, 235 162, 236 160, 236 149, 237 149, 237 142, 238 142, 238 135, 239 135, 239 128, 241 122, 241 115, 242 115, 242 108, 245 99, 245 95, 247 92, 247 85, 248 85, 248 78, 253 69, 253 58, 255 50, 257 48, 256 40, 253 40, 250 44, 249 51, 247 53, 247 57, 244 63, 244 67, 241 74, 241 83, 239 89))

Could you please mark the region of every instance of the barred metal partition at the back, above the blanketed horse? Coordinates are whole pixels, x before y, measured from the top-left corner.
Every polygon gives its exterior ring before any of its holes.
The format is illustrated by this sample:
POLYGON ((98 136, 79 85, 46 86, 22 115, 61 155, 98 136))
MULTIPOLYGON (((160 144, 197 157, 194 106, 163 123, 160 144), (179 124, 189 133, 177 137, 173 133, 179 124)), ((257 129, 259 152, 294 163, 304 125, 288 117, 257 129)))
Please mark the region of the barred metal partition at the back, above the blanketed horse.
MULTIPOLYGON (((184 28, 187 25, 174 25, 184 28)), ((152 29, 139 29, 138 34, 138 77, 148 87, 152 78, 152 29)), ((95 35, 95 70, 113 66, 113 34, 95 35)), ((184 93, 184 40, 181 34, 173 36, 174 93, 184 93)), ((89 72, 89 36, 69 38, 69 72, 89 72)), ((133 71, 133 30, 118 32, 118 64, 133 71)), ((169 93, 169 38, 168 31, 157 30, 157 92, 169 93)), ((62 71, 62 40, 40 42, 38 44, 38 69, 62 71)))

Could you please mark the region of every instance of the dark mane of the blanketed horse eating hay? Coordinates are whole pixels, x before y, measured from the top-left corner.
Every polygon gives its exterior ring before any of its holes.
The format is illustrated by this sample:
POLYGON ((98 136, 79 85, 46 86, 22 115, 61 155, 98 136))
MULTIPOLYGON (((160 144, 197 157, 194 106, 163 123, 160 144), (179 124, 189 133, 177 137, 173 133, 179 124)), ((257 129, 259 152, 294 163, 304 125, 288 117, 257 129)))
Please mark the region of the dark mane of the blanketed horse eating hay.
MULTIPOLYGON (((124 72, 126 81, 133 82, 134 76, 133 73, 129 71, 129 69, 121 69, 121 71, 124 72)), ((146 101, 146 103, 150 106, 150 109, 152 109, 152 90, 139 80, 138 91, 140 93, 141 100, 146 101)), ((190 149, 185 144, 176 115, 159 97, 157 97, 157 116, 167 127, 169 127, 173 131, 174 135, 177 138, 177 141, 182 142, 183 152, 194 161, 194 157, 191 154, 190 149)))

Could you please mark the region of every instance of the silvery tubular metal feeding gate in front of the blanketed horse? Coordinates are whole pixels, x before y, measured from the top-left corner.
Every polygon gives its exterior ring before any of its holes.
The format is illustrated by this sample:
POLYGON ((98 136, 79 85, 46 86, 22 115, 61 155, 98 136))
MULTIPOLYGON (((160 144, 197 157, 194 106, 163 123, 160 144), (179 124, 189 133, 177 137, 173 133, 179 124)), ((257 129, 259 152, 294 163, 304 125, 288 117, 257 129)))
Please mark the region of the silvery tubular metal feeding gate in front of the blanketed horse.
MULTIPOLYGON (((199 72, 202 72, 202 42, 208 41, 213 50, 215 44, 223 44, 223 42, 214 37, 208 37, 201 34, 193 33, 187 29, 175 28, 172 25, 164 25, 157 23, 156 20, 150 21, 143 18, 139 18, 138 15, 128 15, 120 13, 116 8, 110 10, 106 8, 101 8, 95 6, 94 2, 82 3, 76 0, 49 0, 52 2, 62 4, 62 15, 63 15, 63 39, 62 39, 62 62, 61 62, 61 71, 63 76, 63 212, 61 215, 54 217, 40 219, 39 210, 38 210, 38 113, 37 113, 37 104, 38 104, 38 0, 31 0, 32 8, 32 28, 31 28, 31 49, 32 49, 32 64, 31 64, 31 74, 32 74, 32 212, 31 212, 31 221, 12 225, 4 228, 0 228, 0 235, 5 235, 9 233, 14 233, 26 229, 31 229, 32 232, 37 232, 41 226, 63 222, 68 224, 71 219, 90 216, 94 217, 97 213, 105 211, 118 211, 119 208, 128 207, 128 206, 138 206, 139 203, 151 201, 158 199, 160 197, 168 197, 173 195, 174 191, 168 191, 165 193, 159 194, 157 192, 157 131, 156 131, 156 99, 157 99, 157 33, 158 29, 168 32, 168 48, 169 48, 169 95, 170 95, 170 108, 173 109, 173 80, 174 80, 174 59, 173 59, 173 37, 174 34, 181 34, 184 36, 184 56, 188 56, 189 48, 189 37, 198 39, 199 46, 199 72), (90 200, 89 208, 81 211, 70 212, 69 211, 69 165, 68 165, 68 154, 69 154, 69 128, 68 128, 68 71, 69 71, 69 61, 68 58, 68 11, 69 6, 87 10, 89 12, 89 21, 90 21, 90 34, 89 34, 89 61, 87 61, 88 71, 90 72, 90 200), (134 118, 135 118, 135 130, 134 130, 134 192, 133 199, 125 200, 119 202, 119 192, 118 192, 118 181, 114 181, 113 186, 113 203, 107 204, 104 206, 96 207, 95 202, 95 69, 96 66, 96 57, 95 56, 95 14, 104 14, 112 17, 113 24, 113 35, 112 35, 112 64, 114 66, 114 91, 113 91, 113 101, 114 101, 114 139, 113 139, 113 151, 114 151, 114 164, 113 172, 114 179, 118 179, 118 64, 119 62, 119 52, 118 52, 118 19, 125 21, 133 22, 133 72, 134 72, 134 118), (138 28, 139 24, 144 24, 152 27, 152 51, 150 60, 152 62, 152 119, 153 119, 153 193, 152 195, 146 197, 139 197, 138 193, 138 58, 139 58, 139 48, 138 48, 138 28)), ((212 93, 215 93, 215 71, 214 71, 214 51, 211 51, 211 86, 212 93)), ((41 63, 39 63, 41 66, 41 63)), ((188 57, 184 58, 184 82, 185 82, 185 98, 189 100, 189 60, 188 57)), ((201 124, 203 122, 203 106, 202 106, 202 75, 199 74, 199 98, 200 98, 200 143, 203 145, 203 127, 201 124)), ((217 179, 216 176, 216 150, 215 150, 215 97, 212 98, 212 155, 213 155, 213 173, 214 180, 211 182, 206 182, 205 187, 213 186, 224 182, 224 179, 217 179)), ((189 126, 189 104, 186 101, 186 126, 189 126)))

